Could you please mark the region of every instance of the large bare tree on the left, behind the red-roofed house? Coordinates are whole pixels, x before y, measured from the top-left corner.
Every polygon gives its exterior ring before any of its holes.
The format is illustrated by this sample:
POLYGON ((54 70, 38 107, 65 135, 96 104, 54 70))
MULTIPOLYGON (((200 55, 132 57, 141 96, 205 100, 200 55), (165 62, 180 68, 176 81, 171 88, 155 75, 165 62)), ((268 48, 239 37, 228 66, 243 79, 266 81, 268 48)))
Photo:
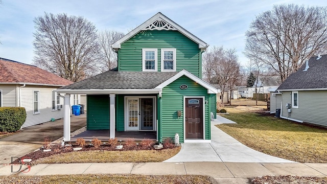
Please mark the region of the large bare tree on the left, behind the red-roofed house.
POLYGON ((95 73, 96 27, 83 17, 44 13, 34 19, 34 64, 73 82, 95 73))

